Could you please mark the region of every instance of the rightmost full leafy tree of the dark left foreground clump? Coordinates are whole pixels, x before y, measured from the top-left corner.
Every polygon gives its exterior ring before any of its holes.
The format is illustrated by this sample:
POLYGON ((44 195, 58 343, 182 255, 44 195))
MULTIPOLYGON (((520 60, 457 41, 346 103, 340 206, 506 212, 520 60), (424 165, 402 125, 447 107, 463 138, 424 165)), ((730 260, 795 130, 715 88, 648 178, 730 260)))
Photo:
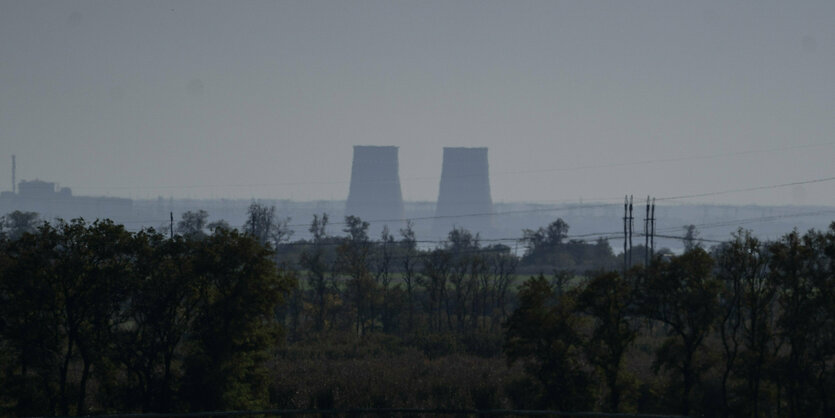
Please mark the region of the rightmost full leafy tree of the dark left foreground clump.
POLYGON ((194 273, 204 282, 185 358, 191 410, 264 408, 266 360, 280 342, 275 308, 294 285, 272 251, 237 231, 200 241, 194 273))

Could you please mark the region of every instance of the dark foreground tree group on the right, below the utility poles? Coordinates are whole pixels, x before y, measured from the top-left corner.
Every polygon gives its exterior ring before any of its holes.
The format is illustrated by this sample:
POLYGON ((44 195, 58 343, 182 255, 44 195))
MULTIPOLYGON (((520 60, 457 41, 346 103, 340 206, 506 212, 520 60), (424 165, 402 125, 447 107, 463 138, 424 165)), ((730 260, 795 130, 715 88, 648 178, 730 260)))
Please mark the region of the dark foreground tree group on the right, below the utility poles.
POLYGON ((773 242, 740 230, 626 277, 599 273, 567 291, 526 281, 505 349, 543 399, 568 410, 592 408, 602 393, 613 412, 833 416, 833 292, 835 224, 773 242), (641 351, 666 385, 655 393, 626 367, 641 351))

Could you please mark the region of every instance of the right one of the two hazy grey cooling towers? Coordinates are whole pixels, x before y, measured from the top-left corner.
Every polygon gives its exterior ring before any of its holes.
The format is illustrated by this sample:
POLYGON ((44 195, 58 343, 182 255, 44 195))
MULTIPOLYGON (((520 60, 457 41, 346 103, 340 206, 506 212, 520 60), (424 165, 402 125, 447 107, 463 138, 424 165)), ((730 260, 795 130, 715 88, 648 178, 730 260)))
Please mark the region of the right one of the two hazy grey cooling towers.
POLYGON ((446 234, 459 227, 484 235, 492 229, 492 216, 485 215, 492 211, 487 148, 445 147, 435 233, 446 234), (475 214, 480 216, 469 216, 475 214))

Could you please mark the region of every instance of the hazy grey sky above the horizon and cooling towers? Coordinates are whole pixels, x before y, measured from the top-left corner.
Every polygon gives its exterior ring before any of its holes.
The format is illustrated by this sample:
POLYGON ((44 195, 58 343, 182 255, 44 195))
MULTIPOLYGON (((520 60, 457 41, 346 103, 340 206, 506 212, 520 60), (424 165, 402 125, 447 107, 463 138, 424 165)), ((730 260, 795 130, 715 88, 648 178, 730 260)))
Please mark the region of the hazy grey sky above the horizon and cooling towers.
MULTIPOLYGON (((835 1, 0 0, 0 189, 344 199, 397 145, 495 201, 835 177, 835 1), (708 157, 708 158, 702 158, 708 157), (632 164, 635 163, 635 164, 632 164)), ((835 181, 693 201, 835 204, 835 181)))

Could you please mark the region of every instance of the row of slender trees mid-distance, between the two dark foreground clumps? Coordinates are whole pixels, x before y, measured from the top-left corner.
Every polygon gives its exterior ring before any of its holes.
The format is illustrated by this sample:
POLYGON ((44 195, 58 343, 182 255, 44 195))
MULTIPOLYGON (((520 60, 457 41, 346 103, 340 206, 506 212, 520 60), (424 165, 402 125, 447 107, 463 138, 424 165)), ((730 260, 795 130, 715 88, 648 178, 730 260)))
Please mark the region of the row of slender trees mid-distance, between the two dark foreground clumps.
POLYGON ((344 236, 328 236, 327 224, 327 215, 316 215, 311 240, 279 246, 302 278, 287 307, 292 338, 501 328, 518 263, 509 247, 481 246, 456 229, 442 246, 421 250, 411 224, 399 239, 384 228, 377 241, 360 218, 345 218, 344 236))

